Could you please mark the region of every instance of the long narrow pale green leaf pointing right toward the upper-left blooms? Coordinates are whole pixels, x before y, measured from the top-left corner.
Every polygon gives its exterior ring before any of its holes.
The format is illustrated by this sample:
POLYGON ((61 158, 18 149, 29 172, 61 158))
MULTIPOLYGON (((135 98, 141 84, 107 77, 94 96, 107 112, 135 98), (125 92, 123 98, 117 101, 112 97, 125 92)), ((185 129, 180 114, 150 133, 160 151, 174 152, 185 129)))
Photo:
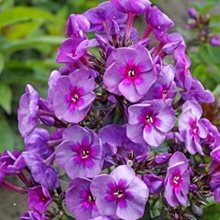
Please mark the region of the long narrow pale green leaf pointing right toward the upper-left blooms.
POLYGON ((2 51, 5 53, 13 53, 18 50, 28 48, 39 48, 45 45, 59 45, 64 40, 64 37, 59 36, 39 36, 34 38, 14 40, 2 45, 2 51))

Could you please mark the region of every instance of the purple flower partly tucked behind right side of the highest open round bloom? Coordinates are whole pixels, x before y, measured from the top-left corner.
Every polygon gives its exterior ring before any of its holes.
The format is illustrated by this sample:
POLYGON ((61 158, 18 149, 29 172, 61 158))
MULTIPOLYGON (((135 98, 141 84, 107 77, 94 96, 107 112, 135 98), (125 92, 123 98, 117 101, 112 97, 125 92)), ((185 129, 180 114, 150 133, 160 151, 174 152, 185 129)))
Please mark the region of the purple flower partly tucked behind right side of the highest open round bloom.
POLYGON ((143 98, 144 100, 152 99, 170 99, 176 94, 176 83, 174 82, 174 67, 166 65, 159 67, 159 74, 156 82, 150 87, 149 91, 143 98))

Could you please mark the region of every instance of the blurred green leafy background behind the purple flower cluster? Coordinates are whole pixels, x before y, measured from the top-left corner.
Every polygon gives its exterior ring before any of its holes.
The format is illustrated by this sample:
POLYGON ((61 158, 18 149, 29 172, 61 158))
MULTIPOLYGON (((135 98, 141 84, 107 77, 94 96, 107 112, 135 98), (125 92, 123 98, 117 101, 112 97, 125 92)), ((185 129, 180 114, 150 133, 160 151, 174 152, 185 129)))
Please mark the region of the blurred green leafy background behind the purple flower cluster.
MULTIPOLYGON (((59 44, 65 39, 68 15, 81 13, 100 2, 102 1, 0 0, 0 152, 23 147, 17 130, 19 98, 27 83, 34 85, 42 96, 46 96, 48 76, 53 69, 59 67, 55 57, 59 44)), ((220 47, 213 47, 207 39, 201 39, 201 29, 188 28, 187 8, 194 6, 202 16, 210 15, 208 32, 220 36, 220 1, 153 2, 173 18, 176 31, 184 35, 188 54, 192 59, 192 74, 216 96, 216 103, 204 105, 204 113, 219 126, 220 47)), ((137 24, 143 27, 141 21, 137 24)), ((210 203, 209 208, 205 209, 205 219, 217 220, 220 219, 219 216, 220 208, 210 203)), ((9 217, 7 220, 10 220, 9 217)))

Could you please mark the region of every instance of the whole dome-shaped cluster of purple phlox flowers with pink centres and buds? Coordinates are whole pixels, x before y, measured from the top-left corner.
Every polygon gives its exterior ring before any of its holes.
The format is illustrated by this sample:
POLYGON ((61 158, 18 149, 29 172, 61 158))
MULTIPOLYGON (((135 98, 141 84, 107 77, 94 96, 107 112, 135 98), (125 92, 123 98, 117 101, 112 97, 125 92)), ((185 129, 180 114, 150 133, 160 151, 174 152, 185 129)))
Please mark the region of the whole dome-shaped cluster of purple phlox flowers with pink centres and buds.
POLYGON ((220 202, 220 134, 200 106, 214 97, 191 75, 173 26, 149 0, 69 16, 47 98, 27 85, 20 99, 25 151, 0 155, 1 186, 27 194, 22 220, 65 207, 77 220, 188 219, 189 205, 220 202))

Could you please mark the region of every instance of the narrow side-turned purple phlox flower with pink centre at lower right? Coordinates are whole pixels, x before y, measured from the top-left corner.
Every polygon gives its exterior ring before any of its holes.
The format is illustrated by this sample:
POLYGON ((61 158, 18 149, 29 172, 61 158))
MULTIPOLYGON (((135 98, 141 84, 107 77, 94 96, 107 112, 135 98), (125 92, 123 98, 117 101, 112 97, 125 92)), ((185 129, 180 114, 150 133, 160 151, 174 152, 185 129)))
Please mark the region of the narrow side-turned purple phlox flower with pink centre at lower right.
POLYGON ((189 162, 183 153, 177 151, 169 161, 165 178, 164 197, 167 203, 175 207, 187 204, 190 186, 189 162))

